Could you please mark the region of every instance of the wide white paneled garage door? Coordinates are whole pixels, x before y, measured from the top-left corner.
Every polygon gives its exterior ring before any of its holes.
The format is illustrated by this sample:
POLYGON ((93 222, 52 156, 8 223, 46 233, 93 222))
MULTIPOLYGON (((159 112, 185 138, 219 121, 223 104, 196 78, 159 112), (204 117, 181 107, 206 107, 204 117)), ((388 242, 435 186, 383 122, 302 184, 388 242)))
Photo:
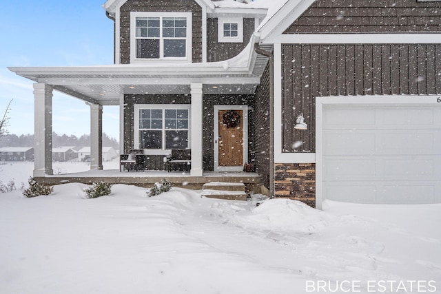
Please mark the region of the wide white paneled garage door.
POLYGON ((322 198, 441 202, 441 107, 326 105, 322 198))

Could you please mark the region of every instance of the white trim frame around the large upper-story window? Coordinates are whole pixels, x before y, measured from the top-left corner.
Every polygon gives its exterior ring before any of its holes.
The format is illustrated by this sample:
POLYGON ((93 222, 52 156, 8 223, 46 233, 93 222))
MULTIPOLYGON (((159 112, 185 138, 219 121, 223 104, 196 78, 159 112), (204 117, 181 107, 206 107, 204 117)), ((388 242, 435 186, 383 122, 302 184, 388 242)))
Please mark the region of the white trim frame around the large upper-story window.
MULTIPOLYGON (((161 27, 162 28, 162 27, 161 27)), ((173 63, 191 63, 192 62, 192 12, 130 12, 130 63, 164 63, 173 61, 173 63), (160 59, 138 59, 136 58, 136 17, 186 17, 187 18, 187 37, 185 57, 165 57, 160 59)), ((161 40, 163 38, 161 37, 161 40)), ((162 41, 161 41, 162 43, 162 41)), ((162 47, 161 47, 162 48, 162 47)), ((162 49, 160 49, 162 50, 162 49)), ((161 56, 163 52, 160 52, 161 56)))

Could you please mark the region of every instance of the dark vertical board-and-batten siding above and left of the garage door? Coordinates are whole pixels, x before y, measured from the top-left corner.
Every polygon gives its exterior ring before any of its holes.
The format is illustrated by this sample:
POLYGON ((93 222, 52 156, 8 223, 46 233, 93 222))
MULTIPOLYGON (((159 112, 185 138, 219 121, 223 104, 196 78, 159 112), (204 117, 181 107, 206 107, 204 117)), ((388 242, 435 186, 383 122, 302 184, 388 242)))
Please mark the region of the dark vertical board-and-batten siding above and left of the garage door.
POLYGON ((285 44, 282 56, 283 152, 315 151, 317 96, 441 94, 441 44, 285 44))

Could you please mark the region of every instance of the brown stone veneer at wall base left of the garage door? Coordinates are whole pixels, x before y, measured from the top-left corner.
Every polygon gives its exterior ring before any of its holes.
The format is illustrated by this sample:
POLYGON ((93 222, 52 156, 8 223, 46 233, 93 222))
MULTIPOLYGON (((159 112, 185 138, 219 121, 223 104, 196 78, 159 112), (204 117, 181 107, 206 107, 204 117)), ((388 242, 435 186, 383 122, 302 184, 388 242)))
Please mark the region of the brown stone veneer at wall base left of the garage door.
POLYGON ((316 164, 276 163, 274 196, 316 207, 316 164))

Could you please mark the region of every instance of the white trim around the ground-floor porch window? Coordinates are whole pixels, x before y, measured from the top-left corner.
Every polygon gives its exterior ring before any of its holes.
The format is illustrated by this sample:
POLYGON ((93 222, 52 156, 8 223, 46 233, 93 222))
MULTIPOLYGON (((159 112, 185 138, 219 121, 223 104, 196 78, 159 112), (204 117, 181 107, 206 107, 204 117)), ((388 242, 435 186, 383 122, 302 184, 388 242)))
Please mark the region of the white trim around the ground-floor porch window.
MULTIPOLYGON (((133 121, 133 132, 134 132, 134 147, 135 149, 139 148, 139 110, 140 109, 187 109, 188 110, 188 148, 191 146, 191 138, 192 138, 192 105, 191 104, 135 104, 134 105, 134 121, 133 121)), ((159 130, 159 129, 158 129, 159 130)), ((163 131, 164 128, 161 129, 163 131)), ((149 154, 153 154, 154 152, 166 151, 166 154, 170 154, 170 149, 165 149, 165 138, 163 134, 163 149, 145 149, 149 154)))

